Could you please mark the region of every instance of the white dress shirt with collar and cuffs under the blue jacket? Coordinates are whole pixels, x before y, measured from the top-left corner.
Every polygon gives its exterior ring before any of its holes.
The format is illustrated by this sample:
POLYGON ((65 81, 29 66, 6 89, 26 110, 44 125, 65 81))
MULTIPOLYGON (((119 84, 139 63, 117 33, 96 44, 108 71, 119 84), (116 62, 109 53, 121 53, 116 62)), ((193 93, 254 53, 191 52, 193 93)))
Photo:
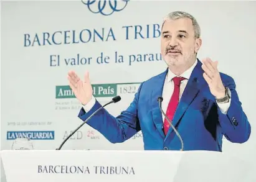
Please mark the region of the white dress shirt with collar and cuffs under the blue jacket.
MULTIPOLYGON (((194 70, 194 67, 197 64, 197 60, 195 61, 194 65, 192 65, 188 70, 186 70, 183 74, 181 74, 181 77, 186 78, 185 80, 181 81, 180 85, 180 91, 179 91, 179 98, 181 98, 184 89, 186 88, 187 81, 189 80, 189 77, 191 76, 192 71, 194 70)), ((166 76, 166 79, 164 81, 164 87, 163 87, 163 102, 162 102, 162 108, 163 111, 166 112, 166 109, 168 107, 169 101, 171 99, 171 95, 173 94, 174 91, 174 83, 173 83, 173 78, 176 75, 174 75, 170 70, 168 70, 168 74, 166 76)), ((83 106, 83 109, 85 109, 85 112, 90 111, 92 109, 93 105, 95 104, 95 98, 92 96, 92 99, 85 105, 83 106)), ((227 103, 217 103, 219 106, 220 111, 223 114, 227 114, 227 110, 229 109, 230 106, 230 99, 229 102, 227 103)), ((164 116, 163 116, 163 122, 164 122, 164 116)))

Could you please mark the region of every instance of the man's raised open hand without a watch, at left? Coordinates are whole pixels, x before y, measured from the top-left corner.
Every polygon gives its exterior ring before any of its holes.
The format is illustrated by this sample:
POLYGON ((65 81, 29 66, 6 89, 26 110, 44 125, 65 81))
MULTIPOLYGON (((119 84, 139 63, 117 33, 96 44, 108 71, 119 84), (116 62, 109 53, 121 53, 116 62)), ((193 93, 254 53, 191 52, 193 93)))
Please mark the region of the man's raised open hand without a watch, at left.
POLYGON ((83 104, 87 104, 92 99, 92 84, 90 83, 88 71, 85 73, 82 81, 75 71, 69 71, 69 86, 73 90, 75 97, 83 104))

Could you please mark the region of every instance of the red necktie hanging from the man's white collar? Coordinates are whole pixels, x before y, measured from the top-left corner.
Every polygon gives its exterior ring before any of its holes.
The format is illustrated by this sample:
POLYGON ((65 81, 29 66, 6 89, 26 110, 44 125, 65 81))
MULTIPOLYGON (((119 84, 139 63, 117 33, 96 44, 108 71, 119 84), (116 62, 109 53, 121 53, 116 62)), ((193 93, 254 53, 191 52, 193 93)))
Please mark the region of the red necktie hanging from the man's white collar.
MULTIPOLYGON (((173 95, 171 96, 171 99, 169 101, 167 110, 166 110, 166 116, 169 118, 170 121, 173 120, 174 113, 176 111, 176 108, 179 104, 179 86, 181 85, 181 81, 184 80, 183 77, 174 77, 174 91, 173 95)), ((168 129, 170 127, 169 122, 164 119, 164 134, 166 135, 168 132, 168 129)))

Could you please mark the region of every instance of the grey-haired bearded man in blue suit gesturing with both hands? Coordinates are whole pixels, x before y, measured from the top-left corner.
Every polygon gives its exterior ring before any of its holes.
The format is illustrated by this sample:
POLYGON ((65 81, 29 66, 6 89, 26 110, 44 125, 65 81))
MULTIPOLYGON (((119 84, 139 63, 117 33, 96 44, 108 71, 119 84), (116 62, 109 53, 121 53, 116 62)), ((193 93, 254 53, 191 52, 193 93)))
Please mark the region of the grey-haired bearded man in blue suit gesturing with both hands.
MULTIPOLYGON (((88 125, 112 143, 125 142, 141 130, 145 150, 180 150, 181 142, 161 114, 158 98, 184 142, 184 150, 222 151, 223 135, 243 143, 250 137, 234 80, 217 70, 217 61, 197 59, 200 27, 190 14, 171 12, 164 19, 161 54, 168 65, 163 73, 141 83, 133 102, 117 117, 102 109, 88 125)), ((93 97, 88 72, 84 81, 68 75, 70 88, 83 104, 78 117, 85 121, 102 105, 93 97)))

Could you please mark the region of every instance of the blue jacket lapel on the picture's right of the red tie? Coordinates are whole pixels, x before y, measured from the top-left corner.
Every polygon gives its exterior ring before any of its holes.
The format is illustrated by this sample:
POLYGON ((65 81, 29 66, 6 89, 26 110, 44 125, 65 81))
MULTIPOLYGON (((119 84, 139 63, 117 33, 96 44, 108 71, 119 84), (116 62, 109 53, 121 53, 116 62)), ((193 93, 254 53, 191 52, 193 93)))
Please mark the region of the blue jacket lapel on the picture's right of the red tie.
MULTIPOLYGON (((173 117, 172 124, 174 127, 176 127, 181 117, 186 112, 187 107, 189 107, 194 98, 196 98, 202 84, 205 83, 204 78, 202 77, 203 71, 201 65, 202 63, 198 60, 198 63, 192 71, 191 77, 187 82, 186 88, 184 89, 183 95, 181 96, 181 100, 179 101, 178 107, 173 117)), ((173 132, 172 127, 169 128, 166 138, 168 138, 171 132, 173 132)))

